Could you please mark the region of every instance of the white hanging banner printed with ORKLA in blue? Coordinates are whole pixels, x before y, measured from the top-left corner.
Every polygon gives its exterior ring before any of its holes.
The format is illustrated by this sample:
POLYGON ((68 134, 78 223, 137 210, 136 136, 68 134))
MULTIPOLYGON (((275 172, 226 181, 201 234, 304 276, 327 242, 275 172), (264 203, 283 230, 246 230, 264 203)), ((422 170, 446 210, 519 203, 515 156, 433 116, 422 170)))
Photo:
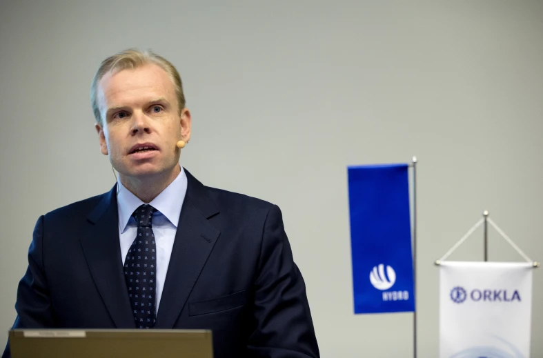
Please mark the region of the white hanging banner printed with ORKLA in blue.
POLYGON ((529 358, 531 263, 440 265, 440 358, 529 358))

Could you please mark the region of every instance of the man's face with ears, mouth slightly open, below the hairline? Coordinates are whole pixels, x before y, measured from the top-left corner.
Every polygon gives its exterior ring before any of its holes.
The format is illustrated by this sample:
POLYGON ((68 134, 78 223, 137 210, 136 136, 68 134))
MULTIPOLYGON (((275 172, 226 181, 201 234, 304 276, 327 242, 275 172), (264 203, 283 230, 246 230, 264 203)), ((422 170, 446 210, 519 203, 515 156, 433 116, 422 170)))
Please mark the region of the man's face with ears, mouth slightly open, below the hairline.
POLYGON ((175 88, 155 64, 106 74, 97 88, 100 149, 121 179, 148 179, 177 168, 176 143, 190 138, 190 112, 179 114, 175 88))

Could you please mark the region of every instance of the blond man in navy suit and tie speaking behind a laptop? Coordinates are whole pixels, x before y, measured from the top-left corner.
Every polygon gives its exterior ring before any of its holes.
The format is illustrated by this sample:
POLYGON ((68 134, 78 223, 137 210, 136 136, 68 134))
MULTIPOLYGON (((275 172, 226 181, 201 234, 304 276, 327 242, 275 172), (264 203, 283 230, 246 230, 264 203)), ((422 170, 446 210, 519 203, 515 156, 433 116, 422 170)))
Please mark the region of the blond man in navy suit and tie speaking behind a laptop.
POLYGON ((119 52, 91 101, 117 184, 38 219, 14 328, 210 329, 217 358, 319 357, 279 208, 179 166, 191 117, 174 66, 119 52))

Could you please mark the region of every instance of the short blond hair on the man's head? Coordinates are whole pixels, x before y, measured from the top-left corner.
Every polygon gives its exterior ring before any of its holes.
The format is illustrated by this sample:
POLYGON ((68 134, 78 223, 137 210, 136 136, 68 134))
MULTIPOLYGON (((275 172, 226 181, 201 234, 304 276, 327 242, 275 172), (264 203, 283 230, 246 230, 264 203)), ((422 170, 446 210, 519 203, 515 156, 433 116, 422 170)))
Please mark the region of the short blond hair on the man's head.
POLYGON ((185 108, 185 95, 183 93, 183 84, 181 83, 181 77, 177 69, 164 57, 155 54, 150 50, 137 50, 130 48, 128 50, 121 51, 113 56, 103 60, 98 68, 95 77, 92 79, 90 85, 90 104, 92 106, 92 112, 95 114, 97 123, 102 123, 100 108, 97 99, 97 87, 98 83, 104 75, 107 73, 119 72, 121 70, 134 70, 140 66, 144 66, 148 63, 154 63, 162 68, 170 77, 173 85, 175 86, 175 95, 177 97, 177 105, 179 106, 179 113, 185 108))

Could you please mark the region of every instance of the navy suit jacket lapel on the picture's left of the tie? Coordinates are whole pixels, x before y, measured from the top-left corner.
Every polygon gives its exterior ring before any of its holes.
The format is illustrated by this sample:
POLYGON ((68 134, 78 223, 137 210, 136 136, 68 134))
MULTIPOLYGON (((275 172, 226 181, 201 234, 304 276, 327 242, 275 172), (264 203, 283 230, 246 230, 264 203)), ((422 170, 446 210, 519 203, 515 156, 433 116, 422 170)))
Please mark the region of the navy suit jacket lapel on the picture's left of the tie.
POLYGON ((92 224, 81 246, 96 287, 117 328, 135 328, 119 243, 117 185, 87 217, 92 224))

